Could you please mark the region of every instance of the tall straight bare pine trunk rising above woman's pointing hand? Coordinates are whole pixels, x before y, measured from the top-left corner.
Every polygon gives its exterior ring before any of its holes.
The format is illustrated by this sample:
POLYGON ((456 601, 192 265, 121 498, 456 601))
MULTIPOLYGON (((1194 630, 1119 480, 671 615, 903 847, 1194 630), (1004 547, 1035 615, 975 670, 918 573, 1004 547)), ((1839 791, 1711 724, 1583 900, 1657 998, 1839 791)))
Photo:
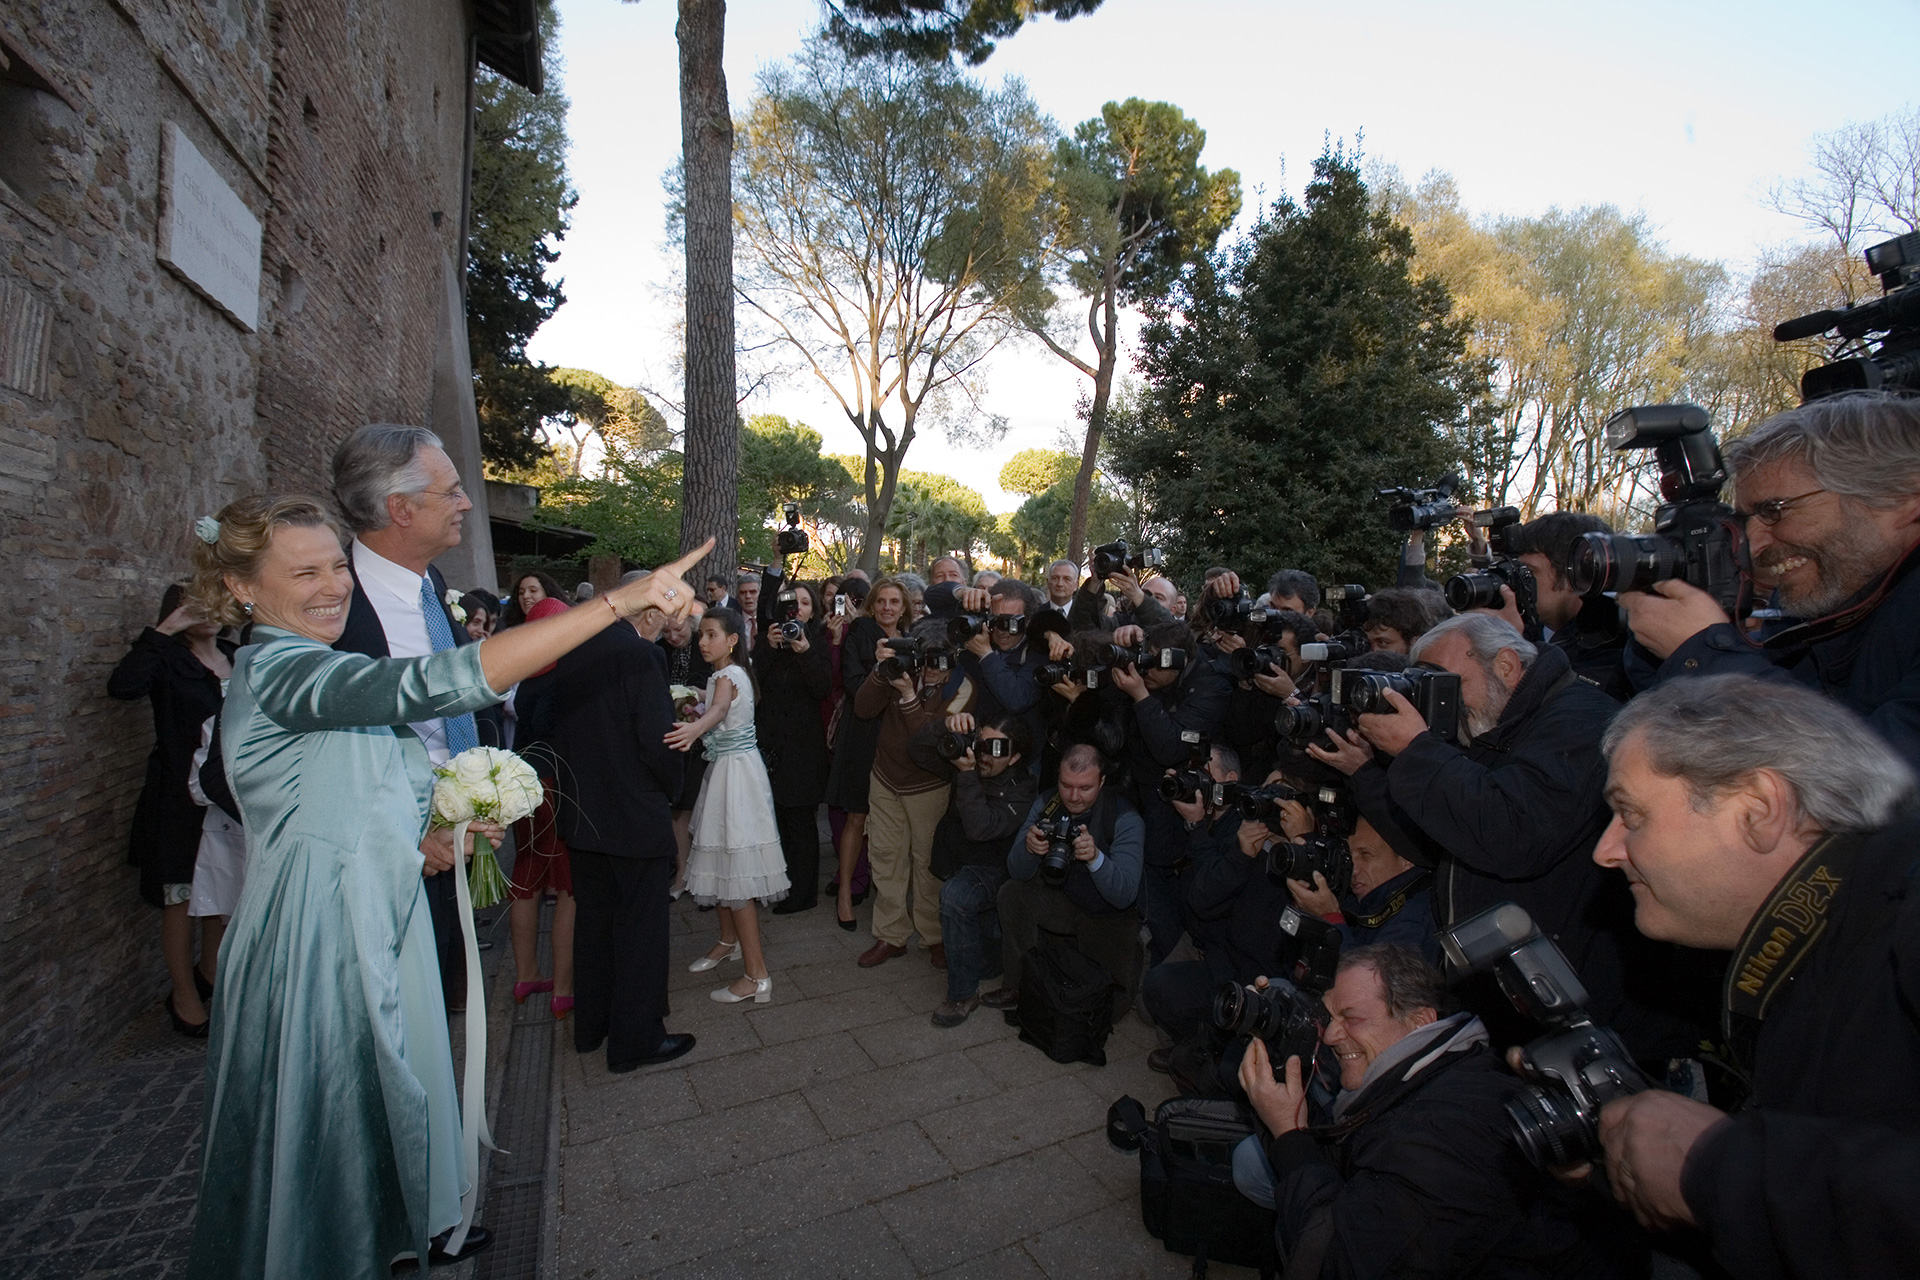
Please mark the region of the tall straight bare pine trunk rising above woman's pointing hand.
POLYGON ((730 581, 739 562, 739 405, 733 378, 733 115, 726 0, 680 0, 680 148, 687 198, 687 422, 680 547, 714 537, 695 568, 730 581))

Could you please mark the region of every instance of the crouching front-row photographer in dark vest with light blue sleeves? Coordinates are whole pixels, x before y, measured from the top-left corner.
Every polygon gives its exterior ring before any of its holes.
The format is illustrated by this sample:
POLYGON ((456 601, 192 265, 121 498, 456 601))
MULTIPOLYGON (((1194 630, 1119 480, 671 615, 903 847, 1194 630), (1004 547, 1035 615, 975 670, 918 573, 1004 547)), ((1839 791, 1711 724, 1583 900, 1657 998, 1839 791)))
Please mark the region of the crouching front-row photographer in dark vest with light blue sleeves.
MULTIPOLYGON (((1106 787, 1106 762, 1085 743, 1060 758, 1060 787, 1033 802, 1021 835, 1006 850, 1000 887, 1000 967, 1004 981, 983 996, 989 1009, 1020 1006, 1020 975, 1041 929, 1071 935, 1083 956, 1106 969, 1131 1000, 1140 986, 1140 842, 1144 827, 1133 804, 1106 787), (1066 814, 1073 827, 1066 877, 1050 885, 1041 871, 1046 825, 1066 814)), ((1125 1007, 1125 1006, 1117 1006, 1125 1007)))

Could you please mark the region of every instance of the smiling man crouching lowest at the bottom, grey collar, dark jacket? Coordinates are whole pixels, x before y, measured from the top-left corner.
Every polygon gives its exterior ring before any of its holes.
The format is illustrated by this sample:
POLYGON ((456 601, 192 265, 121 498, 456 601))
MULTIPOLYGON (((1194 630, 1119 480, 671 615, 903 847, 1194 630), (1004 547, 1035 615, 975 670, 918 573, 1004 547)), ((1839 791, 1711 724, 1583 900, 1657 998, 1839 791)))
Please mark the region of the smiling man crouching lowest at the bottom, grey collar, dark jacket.
POLYGON ((1342 952, 1321 1042, 1340 1059, 1329 1126, 1309 1126, 1300 1059, 1261 1040, 1240 1059, 1269 1138, 1233 1153, 1233 1180, 1277 1211, 1286 1276, 1611 1276, 1513 1146, 1523 1084, 1455 1013, 1440 971, 1377 942, 1342 952))

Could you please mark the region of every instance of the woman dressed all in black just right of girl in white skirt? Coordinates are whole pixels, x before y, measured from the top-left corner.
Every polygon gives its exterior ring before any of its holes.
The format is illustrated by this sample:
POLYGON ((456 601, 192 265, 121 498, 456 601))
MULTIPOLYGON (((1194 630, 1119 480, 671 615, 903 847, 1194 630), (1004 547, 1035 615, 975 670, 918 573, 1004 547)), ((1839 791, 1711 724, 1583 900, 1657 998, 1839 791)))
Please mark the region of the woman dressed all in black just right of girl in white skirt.
POLYGON ((833 693, 833 670, 822 635, 820 593, 808 581, 793 583, 801 633, 787 639, 783 624, 760 626, 753 645, 753 670, 760 676, 760 702, 753 712, 766 779, 774 787, 780 850, 787 856, 793 890, 774 906, 774 915, 804 912, 820 900, 820 798, 828 791, 828 733, 820 700, 833 693))

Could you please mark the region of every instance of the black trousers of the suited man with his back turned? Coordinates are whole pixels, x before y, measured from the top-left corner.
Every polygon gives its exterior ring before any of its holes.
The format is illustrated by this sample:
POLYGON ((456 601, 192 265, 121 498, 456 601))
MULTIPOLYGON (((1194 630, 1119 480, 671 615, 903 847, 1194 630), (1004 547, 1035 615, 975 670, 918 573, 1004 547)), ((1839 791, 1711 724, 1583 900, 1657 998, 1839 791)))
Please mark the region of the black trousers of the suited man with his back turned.
POLYGON ((672 858, 572 850, 574 1048, 607 1042, 607 1065, 655 1054, 666 1038, 672 858))

